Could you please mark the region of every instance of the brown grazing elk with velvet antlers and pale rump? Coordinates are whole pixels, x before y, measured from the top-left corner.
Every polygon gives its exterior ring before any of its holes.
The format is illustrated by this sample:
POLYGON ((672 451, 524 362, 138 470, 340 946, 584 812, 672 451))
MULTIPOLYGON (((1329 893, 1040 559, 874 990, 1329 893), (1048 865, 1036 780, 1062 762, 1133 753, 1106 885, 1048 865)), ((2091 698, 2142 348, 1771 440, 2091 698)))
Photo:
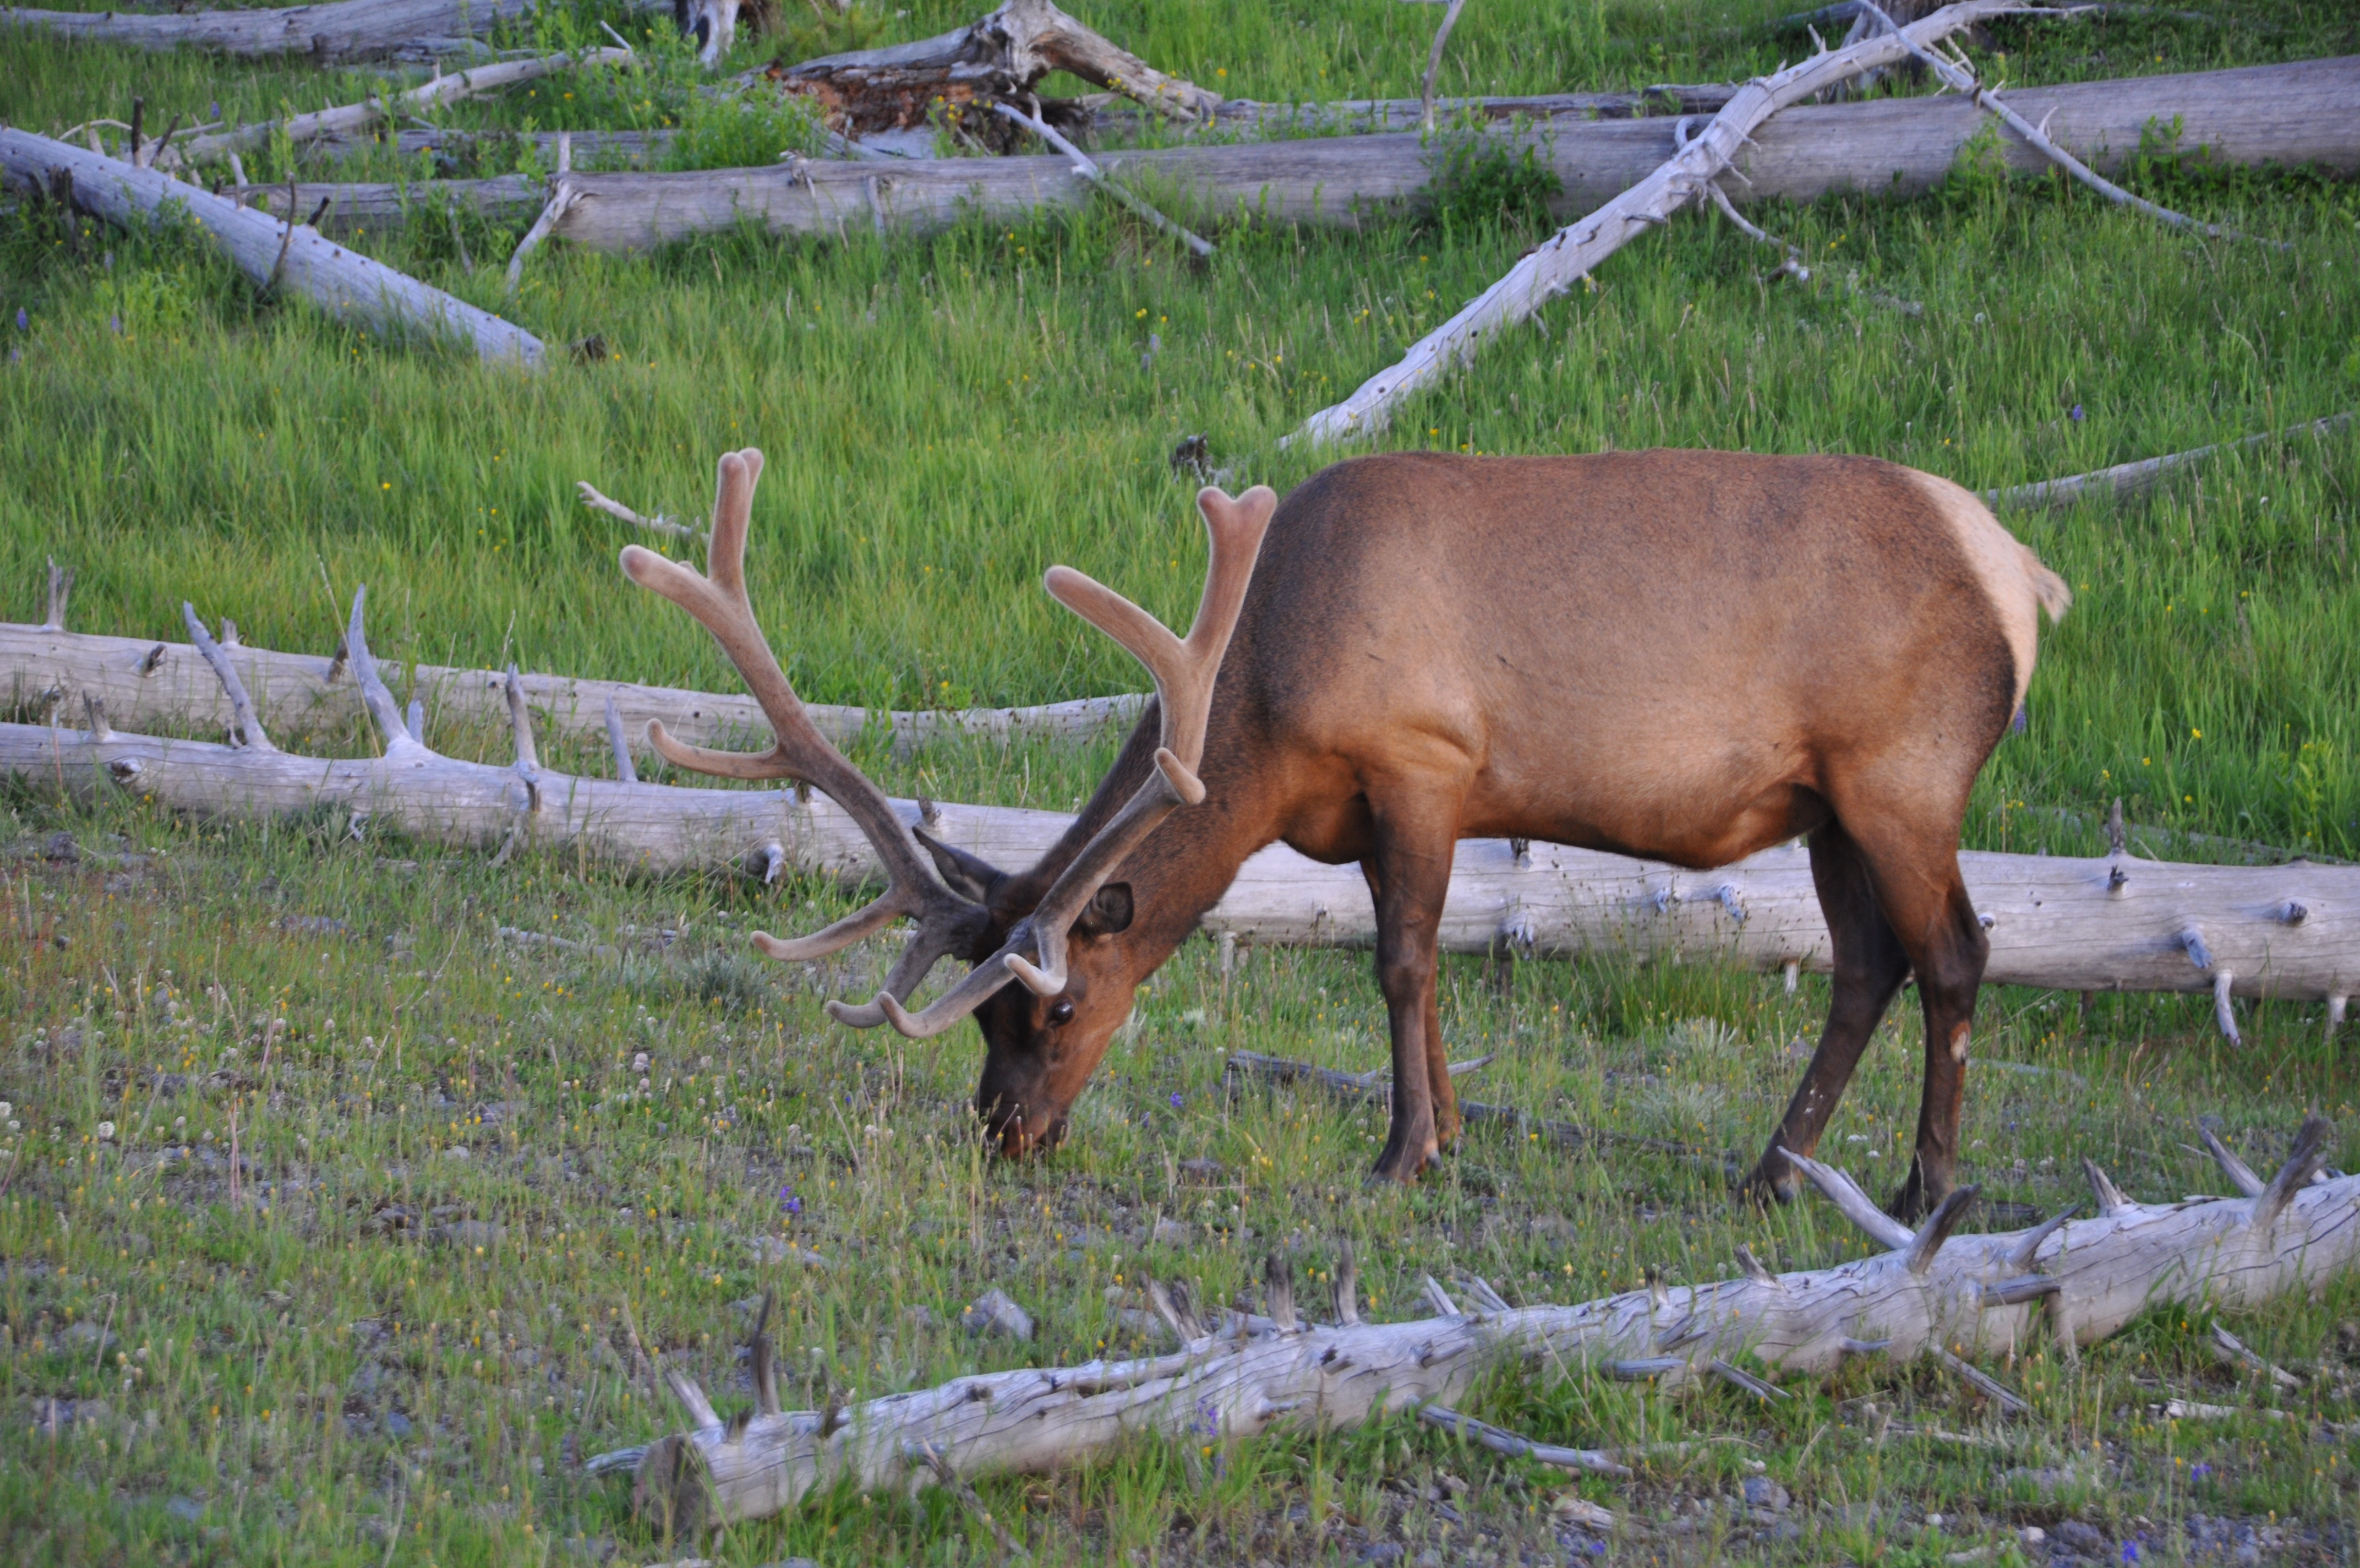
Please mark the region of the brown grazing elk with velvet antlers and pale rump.
POLYGON ((710 576, 637 545, 623 571, 713 631, 776 746, 701 751, 661 725, 649 739, 682 767, 805 779, 861 824, 887 893, 800 942, 755 942, 817 959, 913 916, 885 989, 828 1011, 913 1037, 975 1013, 975 1105, 1003 1152, 1057 1143, 1138 985, 1277 838, 1369 878, 1392 1018, 1376 1176, 1409 1181, 1458 1133, 1435 992, 1458 838, 1704 869, 1808 834, 1834 1006, 1749 1185, 1794 1193, 1779 1150, 1817 1145, 1914 971, 1926 1086, 1893 1209, 1949 1193, 1987 954, 1959 822, 2023 704, 2039 609, 2070 602, 1968 491, 1874 458, 1720 451, 1390 453, 1326 468, 1284 503, 1204 489, 1211 569, 1185 642, 1088 576, 1048 571, 1050 595, 1138 654, 1156 699, 1057 848, 1001 871, 923 831, 920 860, 805 718, 746 600, 760 472, 758 451, 720 460, 710 576), (951 954, 972 971, 911 1013, 951 954))

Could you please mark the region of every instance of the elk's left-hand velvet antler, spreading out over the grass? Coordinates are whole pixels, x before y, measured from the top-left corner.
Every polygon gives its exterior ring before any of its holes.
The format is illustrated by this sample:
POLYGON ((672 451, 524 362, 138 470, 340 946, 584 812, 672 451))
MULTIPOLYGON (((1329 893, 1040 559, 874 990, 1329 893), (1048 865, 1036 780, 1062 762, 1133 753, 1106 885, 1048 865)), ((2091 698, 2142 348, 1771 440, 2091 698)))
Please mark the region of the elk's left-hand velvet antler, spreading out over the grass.
MULTIPOLYGON (((918 933, 887 980, 887 987, 906 997, 944 954, 965 940, 982 916, 982 907, 953 893, 935 867, 925 864, 885 791, 845 760, 845 753, 812 725, 812 716, 805 713, 802 699, 795 697, 786 671, 779 668, 779 656, 762 638, 753 602, 746 597, 746 529, 753 520, 753 491, 762 479, 762 453, 753 446, 725 451, 717 470, 706 571, 699 574, 640 545, 623 545, 623 576, 673 600, 713 633, 760 704, 762 718, 769 720, 774 741, 762 753, 708 751, 675 741, 661 720, 647 725, 647 739, 663 760, 677 767, 725 779, 805 779, 843 805, 885 864, 885 893, 814 935, 781 942, 767 930, 758 930, 753 940, 774 959, 809 961, 850 947, 904 914, 916 916, 918 933)), ((885 1023, 885 1013, 876 1004, 845 1008, 838 1018, 859 1027, 885 1023)))

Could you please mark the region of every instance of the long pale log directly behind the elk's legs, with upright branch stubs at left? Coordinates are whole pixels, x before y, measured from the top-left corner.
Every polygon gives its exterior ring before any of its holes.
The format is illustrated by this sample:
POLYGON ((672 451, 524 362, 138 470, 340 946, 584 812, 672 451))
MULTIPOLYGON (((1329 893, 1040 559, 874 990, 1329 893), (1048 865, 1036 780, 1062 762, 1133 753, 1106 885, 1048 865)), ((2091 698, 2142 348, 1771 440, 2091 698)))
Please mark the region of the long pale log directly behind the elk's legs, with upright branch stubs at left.
MULTIPOLYGON (((189 612, 191 623, 196 621, 189 612)), ((127 645, 137 647, 137 645, 127 645)), ((156 652, 153 645, 149 654, 156 652)), ((868 841, 826 796, 675 789, 562 775, 519 744, 517 767, 463 763, 425 746, 422 704, 394 701, 354 600, 345 633, 361 699, 387 737, 382 758, 295 758, 118 734, 104 704, 92 725, 0 725, 0 772, 94 796, 125 789, 168 810, 271 817, 347 810, 420 841, 463 848, 540 843, 592 860, 670 871, 746 864, 765 878, 793 867, 847 886, 880 876, 868 841), (392 716, 392 718, 387 718, 392 716)), ((203 656, 203 652, 198 654, 203 656)), ((160 661, 158 661, 160 664, 160 661)), ((229 687, 238 666, 217 649, 229 687)), ((496 678, 514 713, 507 678, 496 678)), ((243 680, 241 680, 243 685, 243 680)), ((522 680, 517 685, 522 692, 522 680)), ((231 725, 243 734, 238 701, 231 725)), ((899 801, 906 824, 996 864, 1031 864, 1064 831, 1062 812, 899 801)), ((2325 999, 2329 1032, 2360 980, 2360 869, 2190 867, 2126 852, 1959 857, 1989 930, 1985 980, 2070 992, 2211 992, 2235 1039, 2233 997, 2325 999)), ((1352 867, 1326 867, 1284 843, 1253 855, 1201 926, 1222 942, 1369 947, 1376 912, 1352 867)), ((1598 850, 1470 838, 1458 845, 1440 940, 1480 954, 1626 954, 1643 961, 1728 961, 1758 971, 1829 968, 1827 926, 1801 845, 1718 871, 1683 871, 1598 850)))

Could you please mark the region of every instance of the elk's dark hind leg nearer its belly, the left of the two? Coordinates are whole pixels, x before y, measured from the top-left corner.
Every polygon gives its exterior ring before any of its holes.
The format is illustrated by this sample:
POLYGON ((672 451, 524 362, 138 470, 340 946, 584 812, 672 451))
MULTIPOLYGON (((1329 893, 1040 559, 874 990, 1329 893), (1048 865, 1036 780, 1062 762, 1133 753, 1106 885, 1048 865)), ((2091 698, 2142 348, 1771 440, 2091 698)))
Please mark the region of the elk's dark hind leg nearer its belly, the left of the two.
POLYGON ((1827 916, 1836 971, 1834 1001, 1827 1008, 1820 1048, 1812 1051, 1787 1115, 1770 1133, 1770 1148, 1744 1181, 1744 1190, 1756 1200, 1794 1200, 1801 1178, 1779 1150, 1810 1155, 1820 1148, 1820 1133, 1827 1131, 1843 1086, 1853 1082, 1853 1067, 1860 1065, 1869 1034, 1876 1032, 1886 1008, 1893 1006, 1893 992, 1909 973, 1909 954, 1876 902, 1869 862, 1836 822, 1822 824, 1810 836, 1810 881, 1827 916))

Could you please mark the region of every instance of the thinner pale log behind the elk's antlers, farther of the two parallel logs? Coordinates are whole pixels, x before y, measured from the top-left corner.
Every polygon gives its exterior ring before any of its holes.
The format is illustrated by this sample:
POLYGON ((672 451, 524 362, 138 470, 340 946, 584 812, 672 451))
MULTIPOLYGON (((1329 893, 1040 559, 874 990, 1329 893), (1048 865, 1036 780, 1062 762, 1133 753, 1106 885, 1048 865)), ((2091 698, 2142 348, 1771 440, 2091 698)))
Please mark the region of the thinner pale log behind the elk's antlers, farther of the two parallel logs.
MULTIPOLYGON (((68 574, 71 581, 71 574, 68 574)), ((281 730, 314 730, 352 723, 361 692, 335 659, 274 654, 262 647, 231 649, 262 716, 281 730)), ((437 723, 498 723, 507 692, 498 671, 441 664, 387 664, 387 680, 427 704, 437 723)), ((573 680, 524 675, 524 699, 559 734, 604 734, 607 704, 621 713, 628 734, 644 734, 647 720, 691 746, 729 746, 767 734, 753 697, 736 692, 684 692, 628 680, 573 680)), ((52 626, 0 621, 0 704, 19 713, 83 711, 97 697, 127 730, 219 730, 234 720, 229 699, 210 668, 186 642, 97 638, 52 626)), ((812 723, 838 746, 850 746, 871 725, 887 727, 897 751, 916 751, 946 737, 1045 739, 1081 744, 1133 723, 1145 694, 1079 697, 1029 708, 890 711, 809 704, 812 723)))

